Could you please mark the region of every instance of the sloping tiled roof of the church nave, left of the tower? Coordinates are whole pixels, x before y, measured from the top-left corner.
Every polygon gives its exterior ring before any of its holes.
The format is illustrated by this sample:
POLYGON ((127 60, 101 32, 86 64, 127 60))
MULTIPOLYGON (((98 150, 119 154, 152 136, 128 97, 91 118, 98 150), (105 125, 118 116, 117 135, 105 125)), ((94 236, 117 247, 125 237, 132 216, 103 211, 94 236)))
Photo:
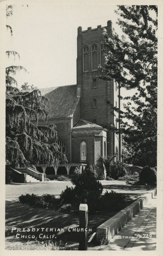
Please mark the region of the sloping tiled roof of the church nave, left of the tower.
POLYGON ((79 102, 77 85, 40 89, 41 95, 49 98, 51 108, 48 118, 73 117, 79 102))

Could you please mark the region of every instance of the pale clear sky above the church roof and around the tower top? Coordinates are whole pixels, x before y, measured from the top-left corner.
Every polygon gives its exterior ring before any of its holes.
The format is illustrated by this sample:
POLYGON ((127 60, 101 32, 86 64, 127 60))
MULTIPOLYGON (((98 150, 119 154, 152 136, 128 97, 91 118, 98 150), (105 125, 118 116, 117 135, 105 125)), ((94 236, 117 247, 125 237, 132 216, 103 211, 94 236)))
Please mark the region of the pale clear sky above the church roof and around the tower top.
POLYGON ((32 4, 13 8, 7 25, 6 50, 16 51, 20 60, 7 58, 6 66, 24 66, 28 73, 17 73, 18 88, 29 82, 37 88, 76 84, 77 29, 107 26, 121 33, 116 24, 117 7, 110 1, 34 1, 32 4))

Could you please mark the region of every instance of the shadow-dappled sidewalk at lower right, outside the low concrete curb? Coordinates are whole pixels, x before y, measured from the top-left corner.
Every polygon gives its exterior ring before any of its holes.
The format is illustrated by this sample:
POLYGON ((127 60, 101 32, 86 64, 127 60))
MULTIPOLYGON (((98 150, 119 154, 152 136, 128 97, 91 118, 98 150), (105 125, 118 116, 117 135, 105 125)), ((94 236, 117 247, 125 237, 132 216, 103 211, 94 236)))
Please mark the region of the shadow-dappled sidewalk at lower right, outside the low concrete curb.
POLYGON ((108 245, 88 247, 88 250, 155 250, 156 197, 135 215, 108 245))

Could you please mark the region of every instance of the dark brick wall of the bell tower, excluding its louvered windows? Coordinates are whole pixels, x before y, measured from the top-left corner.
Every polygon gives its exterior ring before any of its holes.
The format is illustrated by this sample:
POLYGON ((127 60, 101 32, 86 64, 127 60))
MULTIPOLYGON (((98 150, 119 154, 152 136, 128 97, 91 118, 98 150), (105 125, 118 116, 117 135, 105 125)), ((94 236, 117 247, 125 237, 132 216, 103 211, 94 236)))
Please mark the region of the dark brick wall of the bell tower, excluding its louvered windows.
MULTIPOLYGON (((112 36, 112 24, 109 20, 107 26, 104 27, 108 35, 112 36)), ((96 29, 88 28, 82 31, 78 28, 77 37, 77 84, 81 88, 81 118, 97 122, 99 125, 109 127, 114 123, 111 113, 110 104, 114 103, 114 89, 112 81, 104 81, 98 79, 100 71, 91 70, 91 46, 97 45, 98 48, 98 63, 100 64, 100 45, 104 42, 103 29, 98 26, 96 29), (83 72, 83 46, 89 48, 89 71, 83 72), (97 79, 97 88, 93 88, 93 79, 97 79), (93 108, 92 101, 97 100, 97 108, 93 108)), ((116 95, 117 96, 117 95, 116 95)), ((107 154, 114 154, 114 133, 107 134, 107 154)))

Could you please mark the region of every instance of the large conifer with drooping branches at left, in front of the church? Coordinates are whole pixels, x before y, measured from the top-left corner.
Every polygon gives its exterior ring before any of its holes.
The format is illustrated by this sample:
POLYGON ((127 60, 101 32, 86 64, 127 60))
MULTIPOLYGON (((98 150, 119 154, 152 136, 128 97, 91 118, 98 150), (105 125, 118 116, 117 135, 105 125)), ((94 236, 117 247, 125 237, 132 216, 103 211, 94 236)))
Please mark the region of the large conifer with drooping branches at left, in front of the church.
MULTIPOLYGON (((12 5, 7 6, 7 16, 12 15, 12 5)), ((7 26, 12 33, 12 28, 7 26)), ((18 56, 15 51, 7 51, 7 56, 18 56)), ((21 66, 6 68, 6 162, 13 167, 29 166, 31 161, 53 164, 66 161, 57 144, 56 126, 38 125, 38 118, 48 115, 49 101, 41 96, 33 86, 32 90, 18 90, 12 84, 17 81, 12 75, 25 70, 21 66), (33 122, 35 120, 35 122, 33 122), (49 144, 49 141, 53 143, 49 144)), ((22 86, 27 89, 28 83, 22 86)))

